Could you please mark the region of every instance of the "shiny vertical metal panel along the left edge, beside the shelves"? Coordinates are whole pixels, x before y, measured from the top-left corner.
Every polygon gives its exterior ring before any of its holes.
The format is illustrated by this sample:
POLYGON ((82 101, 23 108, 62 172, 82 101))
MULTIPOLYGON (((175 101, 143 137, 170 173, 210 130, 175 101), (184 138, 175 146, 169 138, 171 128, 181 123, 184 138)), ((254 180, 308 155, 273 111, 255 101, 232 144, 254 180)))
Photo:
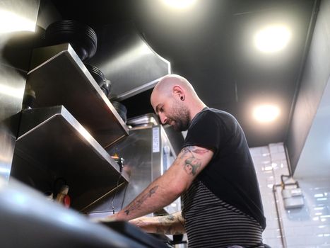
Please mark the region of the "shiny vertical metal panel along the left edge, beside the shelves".
MULTIPOLYGON (((33 24, 37 20, 37 11, 39 0, 16 0, 1 1, 1 17, 5 13, 11 17, 25 18, 25 23, 29 21, 33 24)), ((9 20, 8 20, 9 21, 9 20)), ((12 21, 13 22, 13 21, 12 21)), ((24 23, 24 24, 25 24, 24 23)), ((10 28, 10 25, 2 25, 2 28, 10 28)), ((8 30, 9 32, 20 30, 8 30)), ((25 29, 23 29, 25 30, 25 29)), ((11 162, 13 159, 13 150, 15 147, 16 135, 18 131, 17 113, 22 108, 23 93, 25 87, 25 75, 13 68, 13 64, 8 62, 4 56, 5 48, 15 33, 4 33, 0 31, 0 178, 9 178, 11 171, 11 162)), ((16 58, 16 60, 19 60, 16 58)))

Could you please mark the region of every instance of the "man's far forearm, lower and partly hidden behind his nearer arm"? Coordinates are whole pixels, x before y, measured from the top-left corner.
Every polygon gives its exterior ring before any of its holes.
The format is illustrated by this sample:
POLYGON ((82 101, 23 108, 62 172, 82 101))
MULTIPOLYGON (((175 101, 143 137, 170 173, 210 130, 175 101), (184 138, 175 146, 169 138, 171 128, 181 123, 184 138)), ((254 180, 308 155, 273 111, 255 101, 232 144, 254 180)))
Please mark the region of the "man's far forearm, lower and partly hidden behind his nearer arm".
POLYGON ((185 232, 181 212, 157 217, 140 217, 129 222, 145 232, 160 235, 179 235, 185 232))

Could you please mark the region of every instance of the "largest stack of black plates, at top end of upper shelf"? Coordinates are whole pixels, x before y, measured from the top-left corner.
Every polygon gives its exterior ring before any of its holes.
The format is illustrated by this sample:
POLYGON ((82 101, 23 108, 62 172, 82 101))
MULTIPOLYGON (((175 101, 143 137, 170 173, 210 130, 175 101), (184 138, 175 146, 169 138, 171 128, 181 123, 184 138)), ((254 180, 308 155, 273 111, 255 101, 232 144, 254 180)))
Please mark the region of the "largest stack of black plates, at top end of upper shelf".
POLYGON ((61 20, 50 24, 46 29, 47 45, 70 43, 81 60, 95 55, 98 38, 95 31, 86 24, 73 20, 61 20))

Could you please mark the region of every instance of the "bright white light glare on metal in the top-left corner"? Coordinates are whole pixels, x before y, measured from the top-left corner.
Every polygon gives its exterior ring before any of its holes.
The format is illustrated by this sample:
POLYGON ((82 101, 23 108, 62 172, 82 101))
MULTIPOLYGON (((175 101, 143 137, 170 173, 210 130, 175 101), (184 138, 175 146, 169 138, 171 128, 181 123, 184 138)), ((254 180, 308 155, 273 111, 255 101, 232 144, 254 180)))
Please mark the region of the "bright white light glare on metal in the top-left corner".
POLYGON ((15 31, 35 31, 35 22, 16 15, 11 11, 0 9, 0 33, 15 31))

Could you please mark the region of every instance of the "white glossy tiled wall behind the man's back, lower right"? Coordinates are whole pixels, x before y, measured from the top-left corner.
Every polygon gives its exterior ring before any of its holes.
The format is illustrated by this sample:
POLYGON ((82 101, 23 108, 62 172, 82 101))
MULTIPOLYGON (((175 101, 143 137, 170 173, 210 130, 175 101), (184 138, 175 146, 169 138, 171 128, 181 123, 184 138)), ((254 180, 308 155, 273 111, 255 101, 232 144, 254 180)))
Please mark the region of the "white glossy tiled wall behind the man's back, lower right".
MULTIPOLYGON (((264 242, 272 248, 283 247, 276 215, 273 185, 281 184, 281 175, 288 175, 288 164, 283 143, 250 148, 267 219, 264 242)), ((311 165, 312 166, 312 165, 311 165)), ((302 208, 285 210, 281 186, 276 187, 276 198, 283 239, 288 248, 330 247, 330 179, 297 179, 304 196, 302 208)))

